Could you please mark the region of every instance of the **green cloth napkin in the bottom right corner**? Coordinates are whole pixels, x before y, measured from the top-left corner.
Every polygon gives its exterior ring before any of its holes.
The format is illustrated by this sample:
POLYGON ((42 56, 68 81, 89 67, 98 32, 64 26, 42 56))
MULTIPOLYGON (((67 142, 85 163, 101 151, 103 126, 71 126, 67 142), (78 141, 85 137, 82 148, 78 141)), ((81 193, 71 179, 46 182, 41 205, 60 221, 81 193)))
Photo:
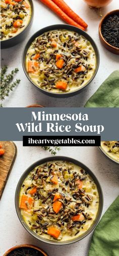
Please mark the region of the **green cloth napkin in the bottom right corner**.
POLYGON ((88 256, 119 255, 119 196, 104 213, 91 240, 88 256))

